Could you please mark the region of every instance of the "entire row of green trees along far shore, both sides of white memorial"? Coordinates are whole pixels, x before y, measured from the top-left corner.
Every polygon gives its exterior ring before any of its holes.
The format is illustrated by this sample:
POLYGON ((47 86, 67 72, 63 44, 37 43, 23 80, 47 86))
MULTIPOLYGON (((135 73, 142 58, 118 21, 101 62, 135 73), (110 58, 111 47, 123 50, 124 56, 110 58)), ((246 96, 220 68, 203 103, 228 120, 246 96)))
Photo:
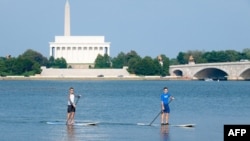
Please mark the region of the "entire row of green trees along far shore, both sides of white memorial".
MULTIPOLYGON (((141 57, 136 51, 128 53, 120 52, 116 57, 107 54, 98 55, 94 67, 97 68, 123 68, 131 74, 136 75, 169 75, 169 66, 178 64, 188 64, 190 56, 194 58, 196 64, 216 63, 216 62, 235 62, 250 60, 250 49, 246 48, 242 52, 235 50, 223 51, 187 51, 179 52, 176 58, 169 59, 164 54, 155 58, 150 56, 141 57)), ((30 76, 41 73, 41 66, 47 68, 70 68, 64 58, 44 57, 41 53, 28 49, 18 57, 0 57, 0 76, 24 75, 30 76)))

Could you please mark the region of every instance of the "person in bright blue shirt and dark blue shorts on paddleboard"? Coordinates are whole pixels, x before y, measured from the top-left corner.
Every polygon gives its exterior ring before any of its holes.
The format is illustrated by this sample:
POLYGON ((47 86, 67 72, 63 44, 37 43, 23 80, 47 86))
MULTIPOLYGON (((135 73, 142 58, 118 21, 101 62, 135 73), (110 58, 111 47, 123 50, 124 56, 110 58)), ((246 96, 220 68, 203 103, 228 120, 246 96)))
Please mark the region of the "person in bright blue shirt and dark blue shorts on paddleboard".
POLYGON ((163 88, 163 93, 161 94, 161 124, 162 125, 168 125, 168 119, 169 119, 169 113, 170 113, 170 108, 169 108, 169 103, 174 99, 173 96, 168 92, 168 88, 164 87, 163 88), (165 122, 164 122, 165 119, 165 122))

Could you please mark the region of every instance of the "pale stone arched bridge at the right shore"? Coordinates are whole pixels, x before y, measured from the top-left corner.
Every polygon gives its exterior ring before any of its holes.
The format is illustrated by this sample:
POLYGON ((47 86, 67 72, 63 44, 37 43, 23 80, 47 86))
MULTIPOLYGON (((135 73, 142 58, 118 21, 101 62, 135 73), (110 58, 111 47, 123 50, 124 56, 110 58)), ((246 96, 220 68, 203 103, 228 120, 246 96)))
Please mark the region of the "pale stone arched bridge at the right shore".
POLYGON ((205 80, 250 80, 250 61, 173 65, 170 76, 205 80))

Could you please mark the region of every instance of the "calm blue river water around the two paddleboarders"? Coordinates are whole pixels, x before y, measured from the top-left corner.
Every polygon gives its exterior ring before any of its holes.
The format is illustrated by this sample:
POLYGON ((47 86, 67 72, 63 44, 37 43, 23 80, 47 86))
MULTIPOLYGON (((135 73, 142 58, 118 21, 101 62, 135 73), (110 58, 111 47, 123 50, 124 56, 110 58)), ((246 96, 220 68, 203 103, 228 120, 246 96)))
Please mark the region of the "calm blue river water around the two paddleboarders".
POLYGON ((248 81, 0 81, 2 141, 222 141, 224 124, 250 124, 248 81), (48 125, 65 122, 68 88, 82 97, 76 121, 97 126, 48 125), (164 86, 175 97, 170 123, 149 124, 160 110, 164 86))

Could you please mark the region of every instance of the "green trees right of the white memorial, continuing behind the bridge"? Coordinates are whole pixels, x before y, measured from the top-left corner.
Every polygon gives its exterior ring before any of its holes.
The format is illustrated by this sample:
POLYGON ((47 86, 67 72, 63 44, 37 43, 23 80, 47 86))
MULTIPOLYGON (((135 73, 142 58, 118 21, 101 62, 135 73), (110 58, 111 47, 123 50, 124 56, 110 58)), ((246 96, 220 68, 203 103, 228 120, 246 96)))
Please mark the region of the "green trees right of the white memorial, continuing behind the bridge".
POLYGON ((121 52, 117 57, 110 58, 108 55, 98 55, 95 60, 95 68, 122 68, 128 66, 128 72, 136 75, 169 75, 170 65, 188 64, 192 56, 194 63, 217 63, 217 62, 236 62, 250 60, 250 49, 242 52, 235 50, 224 51, 187 51, 179 52, 176 58, 169 59, 164 54, 155 58, 150 56, 140 57, 135 51, 127 54, 121 52))

